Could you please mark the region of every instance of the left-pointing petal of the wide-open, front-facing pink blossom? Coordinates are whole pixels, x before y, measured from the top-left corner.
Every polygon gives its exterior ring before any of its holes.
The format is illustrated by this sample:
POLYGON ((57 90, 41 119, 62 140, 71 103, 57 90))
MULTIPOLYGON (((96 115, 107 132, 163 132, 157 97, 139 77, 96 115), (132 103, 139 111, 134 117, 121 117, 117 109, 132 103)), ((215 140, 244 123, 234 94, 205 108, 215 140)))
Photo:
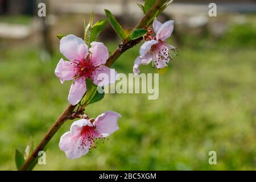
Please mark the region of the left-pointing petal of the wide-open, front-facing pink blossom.
POLYGON ((55 69, 55 75, 60 78, 61 84, 63 84, 65 80, 73 80, 75 72, 72 62, 60 59, 55 69))

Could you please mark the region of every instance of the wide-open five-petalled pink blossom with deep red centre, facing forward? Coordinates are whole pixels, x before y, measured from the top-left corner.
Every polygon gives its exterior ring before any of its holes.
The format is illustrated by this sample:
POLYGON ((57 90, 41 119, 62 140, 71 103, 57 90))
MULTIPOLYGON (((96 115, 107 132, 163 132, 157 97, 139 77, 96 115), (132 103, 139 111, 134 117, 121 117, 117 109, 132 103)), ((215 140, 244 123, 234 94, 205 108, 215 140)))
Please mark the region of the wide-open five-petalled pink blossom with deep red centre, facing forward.
POLYGON ((72 105, 76 105, 84 96, 86 78, 91 79, 98 86, 108 85, 117 79, 114 69, 104 65, 109 57, 106 46, 99 42, 92 42, 90 46, 88 50, 84 40, 75 35, 64 36, 60 40, 60 52, 70 61, 60 59, 55 75, 60 78, 61 84, 66 80, 75 79, 68 95, 68 101, 72 105), (103 75, 106 75, 108 80, 104 80, 106 77, 103 75))

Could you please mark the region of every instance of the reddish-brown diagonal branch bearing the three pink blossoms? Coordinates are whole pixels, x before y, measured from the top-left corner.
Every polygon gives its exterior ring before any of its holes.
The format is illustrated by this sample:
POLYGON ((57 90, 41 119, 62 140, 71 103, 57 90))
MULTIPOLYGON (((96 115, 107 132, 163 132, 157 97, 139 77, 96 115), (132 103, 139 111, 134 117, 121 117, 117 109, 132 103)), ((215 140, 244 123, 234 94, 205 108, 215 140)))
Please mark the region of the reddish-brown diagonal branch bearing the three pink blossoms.
MULTIPOLYGON (((135 26, 134 30, 137 28, 143 28, 146 27, 147 22, 150 21, 152 16, 155 15, 155 13, 160 9, 161 6, 164 5, 164 3, 167 0, 158 0, 156 1, 155 5, 151 7, 150 10, 144 15, 144 17, 139 21, 137 26, 135 26)), ((106 61, 106 66, 111 67, 115 60, 118 59, 119 56, 122 55, 123 52, 125 52, 127 49, 130 49, 131 47, 135 46, 139 42, 141 42, 142 38, 138 38, 136 40, 131 40, 127 43, 121 43, 119 46, 115 49, 115 51, 110 55, 109 59, 106 61)), ((88 98, 90 100, 91 98, 88 98)), ((87 102, 86 102, 87 103, 87 102)), ((87 104, 86 104, 87 105, 87 104)), ((84 105, 84 107, 86 106, 84 105)), ((44 138, 41 140, 41 142, 36 146, 32 154, 29 156, 29 158, 26 160, 26 162, 23 164, 23 166, 20 168, 21 171, 32 169, 34 165, 36 164, 35 160, 38 158, 38 152, 44 150, 44 148, 47 146, 49 141, 52 139, 53 135, 57 132, 57 130, 60 129, 60 127, 64 124, 65 121, 68 119, 75 119, 76 114, 73 113, 74 109, 76 108, 76 105, 68 105, 66 109, 61 113, 59 118, 55 121, 55 123, 52 125, 52 127, 47 131, 44 138), (74 117, 75 116, 75 117, 74 117)), ((84 108, 82 108, 83 110, 84 108)), ((81 111, 81 108, 80 110, 81 111)), ((77 115, 80 116, 81 113, 78 113, 77 115)))

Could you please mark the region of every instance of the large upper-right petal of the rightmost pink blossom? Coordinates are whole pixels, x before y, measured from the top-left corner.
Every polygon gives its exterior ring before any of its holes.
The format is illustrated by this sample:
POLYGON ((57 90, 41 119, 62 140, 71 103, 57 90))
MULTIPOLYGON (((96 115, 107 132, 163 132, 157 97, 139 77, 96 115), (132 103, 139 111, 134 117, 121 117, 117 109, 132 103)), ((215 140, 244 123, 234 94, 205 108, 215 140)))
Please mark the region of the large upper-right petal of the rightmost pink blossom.
POLYGON ((174 30, 174 20, 168 20, 165 22, 156 32, 156 39, 166 40, 171 36, 172 31, 174 30))

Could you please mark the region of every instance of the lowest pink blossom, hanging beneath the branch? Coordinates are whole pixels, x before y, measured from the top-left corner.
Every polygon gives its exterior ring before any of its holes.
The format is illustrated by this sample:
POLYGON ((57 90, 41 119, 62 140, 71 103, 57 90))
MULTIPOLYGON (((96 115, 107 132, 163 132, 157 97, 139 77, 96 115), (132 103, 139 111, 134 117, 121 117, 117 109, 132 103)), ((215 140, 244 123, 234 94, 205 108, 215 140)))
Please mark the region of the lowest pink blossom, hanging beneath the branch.
POLYGON ((96 148, 96 139, 108 137, 119 129, 117 120, 120 117, 121 115, 114 111, 106 111, 95 120, 79 119, 73 122, 70 131, 60 138, 60 150, 70 159, 80 158, 87 154, 90 148, 96 148))

